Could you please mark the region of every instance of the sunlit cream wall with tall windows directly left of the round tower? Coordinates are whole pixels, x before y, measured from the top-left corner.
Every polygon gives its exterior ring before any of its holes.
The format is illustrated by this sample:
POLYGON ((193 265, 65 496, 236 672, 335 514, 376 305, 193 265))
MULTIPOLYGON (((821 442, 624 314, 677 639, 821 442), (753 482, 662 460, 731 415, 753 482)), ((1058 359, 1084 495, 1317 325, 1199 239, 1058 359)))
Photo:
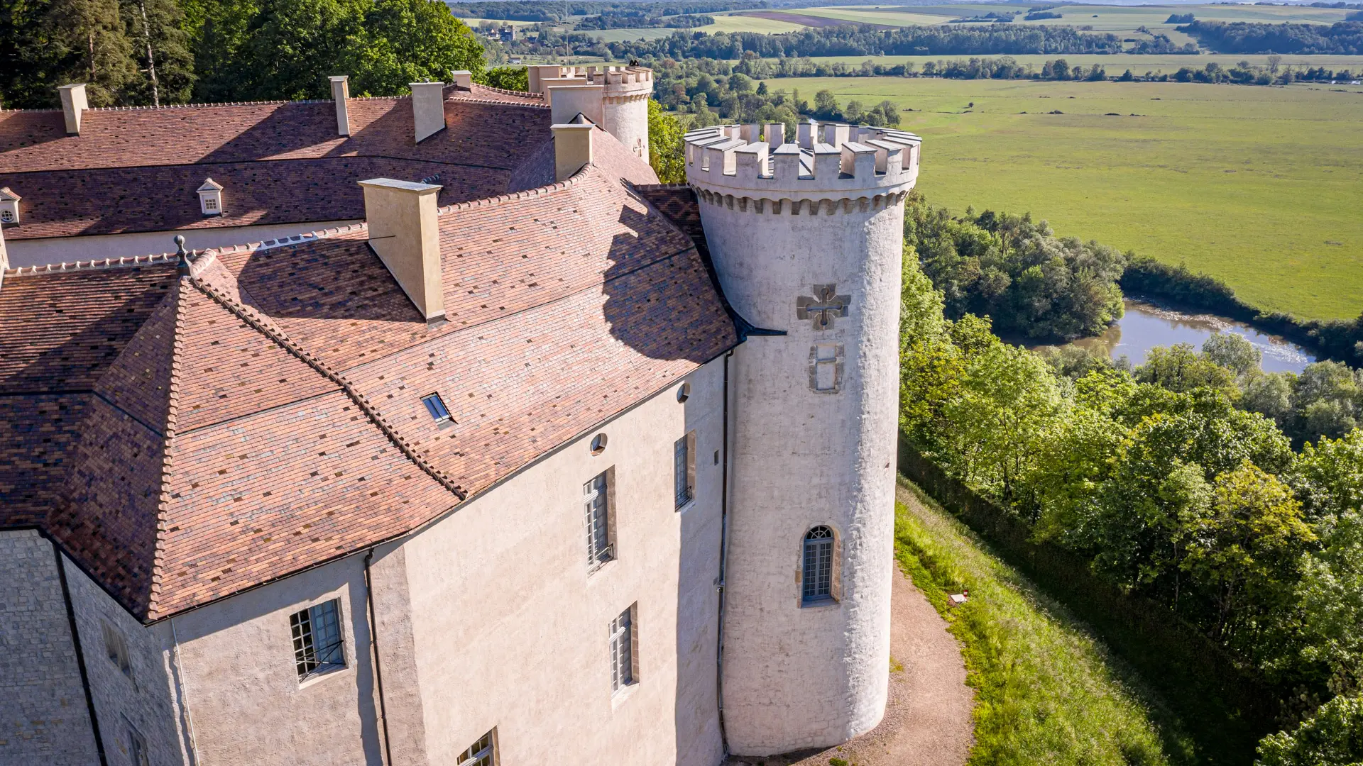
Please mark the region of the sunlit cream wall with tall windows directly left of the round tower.
POLYGON ((431 763, 493 728, 507 765, 720 762, 722 364, 684 403, 673 387, 600 428, 602 454, 586 433, 403 545, 431 763), (696 496, 679 512, 688 431, 696 496), (617 559, 589 574, 582 487, 612 466, 617 559), (612 698, 608 626, 631 604, 638 684, 612 698))

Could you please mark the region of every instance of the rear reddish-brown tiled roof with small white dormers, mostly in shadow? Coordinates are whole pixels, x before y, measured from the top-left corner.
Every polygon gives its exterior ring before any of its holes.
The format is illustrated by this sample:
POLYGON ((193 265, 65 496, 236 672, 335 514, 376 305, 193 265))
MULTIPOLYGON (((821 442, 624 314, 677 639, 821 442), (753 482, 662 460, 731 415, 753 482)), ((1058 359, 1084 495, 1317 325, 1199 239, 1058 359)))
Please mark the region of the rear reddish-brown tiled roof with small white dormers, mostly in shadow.
POLYGON ((363 218, 356 181, 439 176, 440 202, 507 191, 549 139, 538 97, 446 89, 446 129, 414 143, 410 97, 353 98, 350 136, 331 101, 0 112, 0 187, 23 198, 10 240, 363 218), (224 215, 195 189, 225 187, 224 215))

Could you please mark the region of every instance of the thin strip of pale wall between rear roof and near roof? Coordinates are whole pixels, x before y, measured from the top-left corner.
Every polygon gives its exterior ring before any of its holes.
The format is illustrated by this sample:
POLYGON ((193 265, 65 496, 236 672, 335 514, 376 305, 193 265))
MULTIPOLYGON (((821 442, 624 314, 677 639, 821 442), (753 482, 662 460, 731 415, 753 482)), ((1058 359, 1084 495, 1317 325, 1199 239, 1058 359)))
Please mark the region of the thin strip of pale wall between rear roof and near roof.
POLYGON ((206 249, 262 243, 335 226, 348 226, 350 224, 358 224, 358 221, 304 221, 301 224, 271 224, 264 226, 222 226, 215 229, 45 237, 38 240, 15 240, 11 236, 5 247, 10 251, 10 267, 18 269, 20 266, 42 266, 46 263, 75 263, 76 260, 102 260, 105 258, 135 258, 139 255, 174 252, 176 234, 184 234, 184 247, 189 249, 206 249))

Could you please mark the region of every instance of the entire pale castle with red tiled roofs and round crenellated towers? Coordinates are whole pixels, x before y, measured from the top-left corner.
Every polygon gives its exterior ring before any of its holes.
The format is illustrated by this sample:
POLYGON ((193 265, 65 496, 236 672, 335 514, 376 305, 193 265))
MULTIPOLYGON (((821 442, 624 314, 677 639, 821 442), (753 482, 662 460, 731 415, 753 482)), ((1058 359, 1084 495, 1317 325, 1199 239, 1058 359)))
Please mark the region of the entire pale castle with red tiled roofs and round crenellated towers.
POLYGON ((660 185, 646 68, 331 86, 0 112, 0 762, 874 728, 919 138, 703 128, 660 185))

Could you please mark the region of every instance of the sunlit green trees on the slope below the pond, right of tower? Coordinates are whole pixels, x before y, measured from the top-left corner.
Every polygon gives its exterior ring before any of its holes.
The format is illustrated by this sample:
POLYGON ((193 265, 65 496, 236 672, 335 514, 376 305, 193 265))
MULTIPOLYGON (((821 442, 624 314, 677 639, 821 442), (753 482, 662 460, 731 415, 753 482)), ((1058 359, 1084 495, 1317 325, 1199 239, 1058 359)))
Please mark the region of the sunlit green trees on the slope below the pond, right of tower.
POLYGON ((1264 373, 1238 335, 1134 369, 1045 357, 988 319, 949 319, 920 267, 935 259, 905 256, 906 438, 1035 538, 1201 630, 1272 690, 1283 725, 1304 718, 1265 740, 1264 763, 1358 761, 1310 754, 1363 731, 1348 702, 1363 688, 1363 373, 1264 373))

